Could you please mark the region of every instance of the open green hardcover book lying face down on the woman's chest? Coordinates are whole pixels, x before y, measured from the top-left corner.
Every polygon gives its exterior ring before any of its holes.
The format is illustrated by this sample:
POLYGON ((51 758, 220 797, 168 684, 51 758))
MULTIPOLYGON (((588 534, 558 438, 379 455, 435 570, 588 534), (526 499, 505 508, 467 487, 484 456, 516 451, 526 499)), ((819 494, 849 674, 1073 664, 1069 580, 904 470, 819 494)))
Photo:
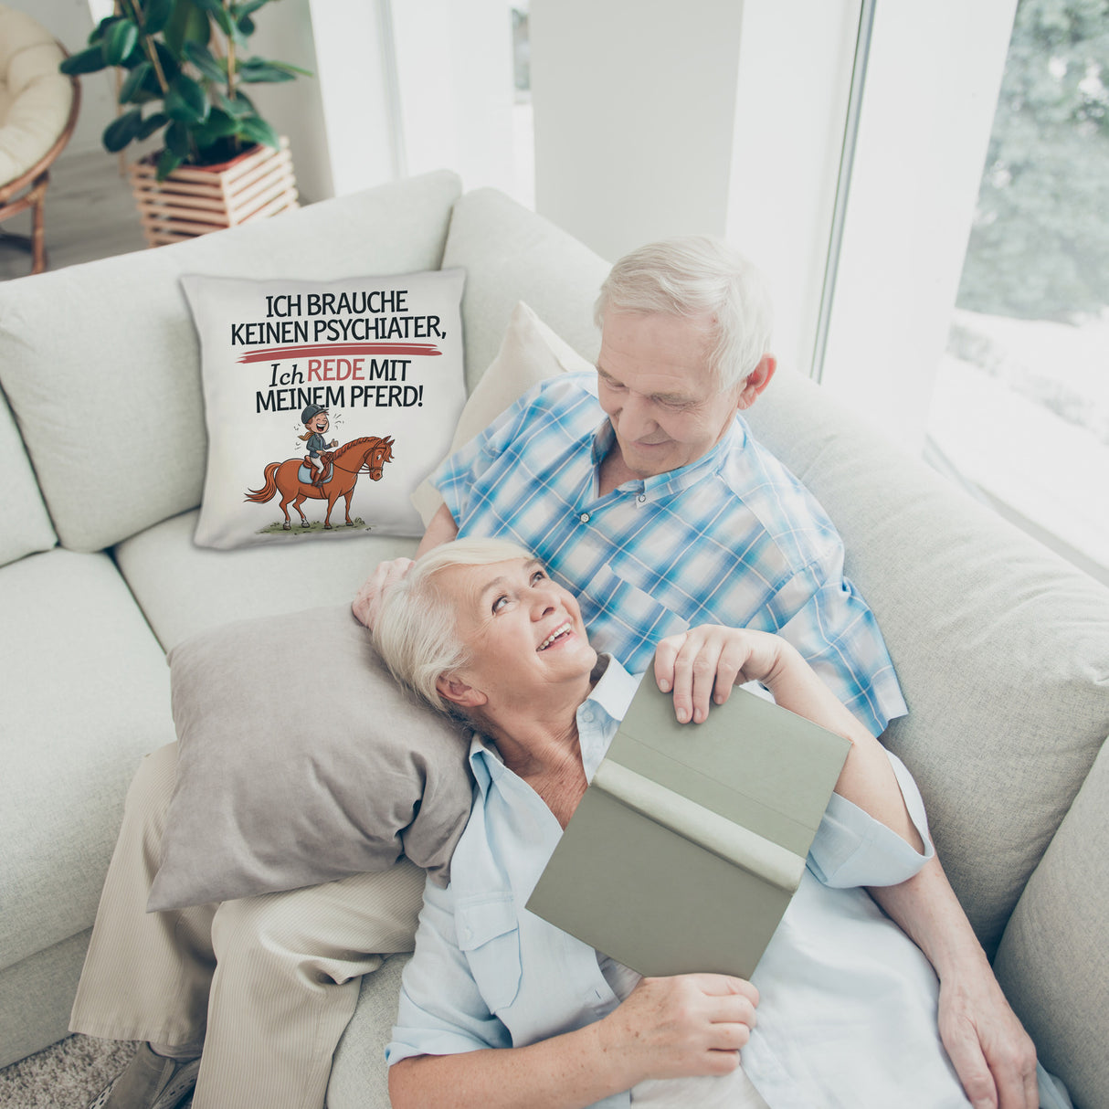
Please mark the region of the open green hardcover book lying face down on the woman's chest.
POLYGON ((849 750, 743 689, 679 724, 648 672, 527 907, 642 975, 750 978, 849 750))

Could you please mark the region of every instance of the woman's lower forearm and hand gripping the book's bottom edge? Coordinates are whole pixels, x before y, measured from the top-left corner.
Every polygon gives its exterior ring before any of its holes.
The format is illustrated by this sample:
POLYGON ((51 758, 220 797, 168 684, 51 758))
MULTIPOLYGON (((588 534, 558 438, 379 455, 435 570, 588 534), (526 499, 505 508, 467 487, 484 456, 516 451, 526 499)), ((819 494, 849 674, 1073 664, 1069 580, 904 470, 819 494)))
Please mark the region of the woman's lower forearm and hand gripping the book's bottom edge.
POLYGON ((389 1069, 394 1109, 579 1109, 647 1078, 726 1075, 751 1037, 749 981, 644 978, 607 1017, 519 1048, 421 1055, 389 1069))

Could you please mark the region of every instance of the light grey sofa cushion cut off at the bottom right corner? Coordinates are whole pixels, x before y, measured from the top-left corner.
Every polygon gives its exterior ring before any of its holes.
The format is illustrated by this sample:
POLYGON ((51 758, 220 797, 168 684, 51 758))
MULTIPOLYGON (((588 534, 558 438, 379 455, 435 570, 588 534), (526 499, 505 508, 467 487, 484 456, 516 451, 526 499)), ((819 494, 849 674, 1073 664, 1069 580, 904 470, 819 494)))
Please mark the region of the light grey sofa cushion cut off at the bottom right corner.
POLYGON ((1109 1093, 1109 743, 1017 902, 994 964, 1040 1059, 1075 1102, 1109 1093))

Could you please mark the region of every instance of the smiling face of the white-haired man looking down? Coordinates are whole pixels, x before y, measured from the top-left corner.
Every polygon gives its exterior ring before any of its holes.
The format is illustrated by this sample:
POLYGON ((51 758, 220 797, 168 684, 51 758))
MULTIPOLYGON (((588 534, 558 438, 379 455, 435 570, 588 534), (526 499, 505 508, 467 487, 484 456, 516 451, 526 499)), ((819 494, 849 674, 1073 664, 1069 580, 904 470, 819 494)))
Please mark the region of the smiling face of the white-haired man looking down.
POLYGON ((609 312, 598 396, 624 465, 640 478, 706 455, 731 426, 744 386, 721 391, 709 369, 708 322, 609 312))

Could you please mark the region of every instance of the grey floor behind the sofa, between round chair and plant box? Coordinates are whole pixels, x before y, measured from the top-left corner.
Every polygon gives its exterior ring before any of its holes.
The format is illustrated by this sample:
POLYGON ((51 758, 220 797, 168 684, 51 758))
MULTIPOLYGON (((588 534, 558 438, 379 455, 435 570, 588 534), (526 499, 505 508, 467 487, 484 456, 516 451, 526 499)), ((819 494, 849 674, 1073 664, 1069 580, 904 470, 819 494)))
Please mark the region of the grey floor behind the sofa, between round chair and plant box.
MULTIPOLYGON (((146 246, 119 159, 102 150, 67 151, 54 162, 44 212, 48 269, 146 246)), ((30 228, 30 213, 0 224, 0 281, 31 272, 29 251, 8 238, 30 228)))

